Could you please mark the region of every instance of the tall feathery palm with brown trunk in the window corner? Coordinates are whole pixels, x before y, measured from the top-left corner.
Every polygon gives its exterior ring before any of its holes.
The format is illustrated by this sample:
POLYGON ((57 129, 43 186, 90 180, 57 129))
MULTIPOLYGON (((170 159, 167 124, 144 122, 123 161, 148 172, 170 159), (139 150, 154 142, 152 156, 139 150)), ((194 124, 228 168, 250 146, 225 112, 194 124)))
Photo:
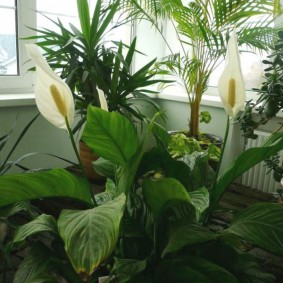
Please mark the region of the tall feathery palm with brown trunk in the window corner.
POLYGON ((210 75, 224 58, 231 31, 236 29, 240 46, 266 50, 274 34, 271 23, 280 13, 279 1, 269 0, 195 0, 188 5, 179 0, 126 2, 132 5, 133 16, 149 20, 160 32, 161 17, 173 23, 181 52, 171 50, 172 54, 160 66, 179 78, 188 94, 189 134, 194 137, 199 135, 202 95, 210 75), (251 17, 256 20, 251 22, 251 17))

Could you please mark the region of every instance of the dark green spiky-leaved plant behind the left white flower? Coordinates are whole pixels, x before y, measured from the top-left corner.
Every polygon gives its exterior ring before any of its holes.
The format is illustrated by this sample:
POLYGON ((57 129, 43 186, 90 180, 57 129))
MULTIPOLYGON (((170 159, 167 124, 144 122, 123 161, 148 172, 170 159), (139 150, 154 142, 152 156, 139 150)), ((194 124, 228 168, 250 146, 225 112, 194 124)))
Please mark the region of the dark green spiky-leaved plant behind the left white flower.
POLYGON ((153 78, 156 72, 151 69, 155 60, 132 74, 134 54, 137 52, 136 40, 127 46, 105 39, 113 30, 129 21, 129 18, 121 15, 115 23, 119 3, 119 0, 110 4, 98 0, 91 14, 87 0, 77 0, 80 29, 72 23, 68 27, 60 19, 54 21, 48 18, 58 32, 47 28, 36 29, 37 35, 26 38, 37 41, 51 68, 60 73, 69 85, 77 114, 81 117, 74 132, 84 124, 88 105, 100 107, 98 88, 106 96, 109 111, 123 113, 132 122, 145 118, 134 104, 135 101, 142 100, 158 108, 146 95, 154 92, 148 90, 148 86, 162 81, 153 78), (128 49, 127 52, 125 49, 128 49))

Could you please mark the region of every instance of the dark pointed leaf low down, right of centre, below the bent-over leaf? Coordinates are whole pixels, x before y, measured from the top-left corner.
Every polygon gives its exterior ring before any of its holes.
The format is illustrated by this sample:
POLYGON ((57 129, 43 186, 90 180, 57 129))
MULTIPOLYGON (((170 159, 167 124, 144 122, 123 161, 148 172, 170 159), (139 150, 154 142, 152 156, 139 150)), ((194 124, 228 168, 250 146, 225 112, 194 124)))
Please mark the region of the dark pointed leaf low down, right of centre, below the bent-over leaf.
POLYGON ((181 250, 185 246, 212 241, 217 234, 191 222, 179 221, 170 227, 169 242, 162 253, 164 257, 168 253, 181 250))

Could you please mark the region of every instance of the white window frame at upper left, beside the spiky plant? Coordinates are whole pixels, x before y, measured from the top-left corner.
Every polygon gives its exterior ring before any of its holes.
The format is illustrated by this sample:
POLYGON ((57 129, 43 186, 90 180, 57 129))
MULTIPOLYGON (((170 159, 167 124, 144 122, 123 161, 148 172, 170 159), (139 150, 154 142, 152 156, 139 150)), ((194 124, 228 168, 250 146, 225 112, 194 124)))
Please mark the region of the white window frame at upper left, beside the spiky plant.
POLYGON ((32 64, 25 50, 27 40, 22 38, 34 34, 28 27, 36 27, 36 0, 17 0, 16 3, 19 75, 0 76, 0 95, 31 93, 34 84, 34 75, 28 71, 32 64))

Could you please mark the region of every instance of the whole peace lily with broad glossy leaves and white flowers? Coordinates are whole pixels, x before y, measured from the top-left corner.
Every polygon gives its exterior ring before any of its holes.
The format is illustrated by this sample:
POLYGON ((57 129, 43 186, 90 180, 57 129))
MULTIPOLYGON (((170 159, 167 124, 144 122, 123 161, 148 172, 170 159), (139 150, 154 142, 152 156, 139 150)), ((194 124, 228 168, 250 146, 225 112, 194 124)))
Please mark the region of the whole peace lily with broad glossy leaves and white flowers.
MULTIPOLYGON (((235 43, 232 35, 229 62, 234 60, 235 43)), ((33 46, 28 48, 33 50, 33 46)), ((48 95, 46 107, 61 113, 64 119, 57 117, 63 122, 69 119, 68 109, 59 110, 63 108, 56 106, 53 96, 58 100, 60 94, 63 105, 69 92, 37 55, 38 75, 47 76, 42 89, 36 88, 37 95, 48 95), (58 90, 53 96, 51 85, 58 90)), ((239 74, 230 68, 220 82, 231 116, 243 95, 239 74)), ((41 82, 38 78, 37 83, 41 82)), ((209 182, 210 148, 176 160, 167 150, 167 132, 154 120, 141 138, 125 116, 89 106, 82 139, 101 156, 94 167, 107 177, 106 190, 94 196, 95 202, 87 179, 65 169, 0 176, 0 219, 12 231, 11 239, 0 242, 3 283, 11 282, 7 278, 11 268, 16 269, 14 283, 98 282, 105 275, 109 275, 108 282, 119 283, 275 282, 245 252, 243 242, 283 255, 281 204, 252 205, 237 211, 231 223, 216 230, 210 224, 229 185, 283 149, 282 133, 240 154, 209 182), (151 133, 156 143, 146 150, 151 133), (51 197, 61 200, 59 212, 46 211, 34 202, 39 199, 41 205, 54 206, 51 197), (71 208, 62 197, 72 199, 71 208), (23 261, 13 265, 13 255, 19 253, 23 261)))

